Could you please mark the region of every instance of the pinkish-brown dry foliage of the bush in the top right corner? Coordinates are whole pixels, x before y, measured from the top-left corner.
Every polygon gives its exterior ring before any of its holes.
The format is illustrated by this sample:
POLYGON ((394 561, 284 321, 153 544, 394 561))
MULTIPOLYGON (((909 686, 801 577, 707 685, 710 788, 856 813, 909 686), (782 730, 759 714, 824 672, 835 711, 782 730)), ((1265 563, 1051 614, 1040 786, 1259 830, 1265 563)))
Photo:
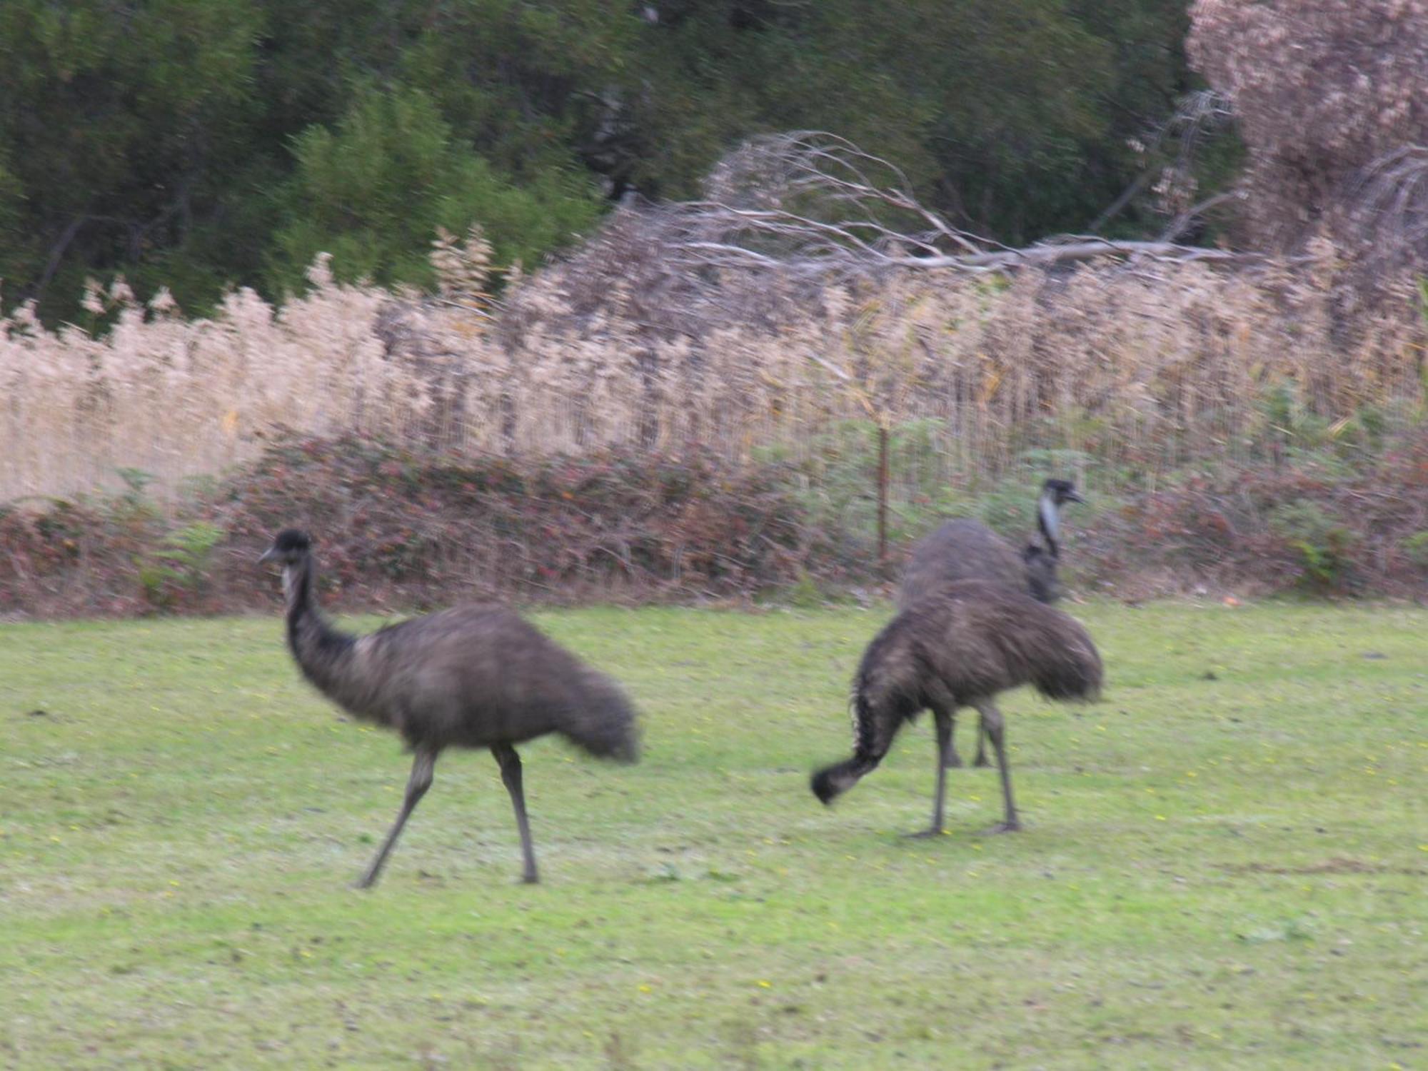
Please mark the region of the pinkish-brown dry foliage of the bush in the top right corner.
MULTIPOLYGON (((1192 63, 1232 100, 1254 248, 1315 238, 1362 261, 1355 287, 1428 256, 1428 3, 1197 0, 1192 63)), ((1361 294, 1359 294, 1361 297, 1361 294)))

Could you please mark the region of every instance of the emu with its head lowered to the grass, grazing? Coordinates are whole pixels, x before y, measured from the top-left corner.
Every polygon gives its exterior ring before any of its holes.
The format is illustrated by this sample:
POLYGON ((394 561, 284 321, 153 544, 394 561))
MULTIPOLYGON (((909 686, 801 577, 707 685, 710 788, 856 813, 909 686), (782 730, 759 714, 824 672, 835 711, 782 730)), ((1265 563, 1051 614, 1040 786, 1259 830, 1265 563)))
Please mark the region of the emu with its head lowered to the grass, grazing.
POLYGON ((971 580, 912 603, 874 637, 853 684, 853 758, 813 775, 828 804, 874 770, 904 721, 925 707, 937 725, 932 824, 941 833, 947 751, 958 707, 975 707, 1001 771, 1005 817, 995 833, 1021 828, 1011 800, 998 693, 1031 684, 1047 698, 1091 700, 1101 690, 1101 657, 1071 617, 1020 591, 971 580))

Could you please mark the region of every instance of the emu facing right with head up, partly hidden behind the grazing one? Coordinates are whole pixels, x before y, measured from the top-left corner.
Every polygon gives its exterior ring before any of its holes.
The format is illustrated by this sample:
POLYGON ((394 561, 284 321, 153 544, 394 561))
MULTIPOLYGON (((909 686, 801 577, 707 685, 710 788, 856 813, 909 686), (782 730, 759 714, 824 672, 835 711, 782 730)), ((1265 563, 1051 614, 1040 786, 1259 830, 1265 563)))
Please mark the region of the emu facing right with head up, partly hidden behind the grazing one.
MULTIPOLYGON (((1038 603, 1057 601, 1061 595, 1057 583, 1061 507, 1084 501, 1070 480, 1047 480, 1037 501, 1037 528, 1047 545, 1042 548, 1028 543, 1021 554, 981 521, 965 517, 945 521, 912 547, 912 557, 898 590, 898 608, 960 580, 985 580, 1011 591, 1028 591, 1038 603)), ((990 765, 985 737, 985 733, 977 733, 977 758, 972 765, 990 765)), ((947 751, 947 763, 954 767, 962 764, 955 744, 947 751)))

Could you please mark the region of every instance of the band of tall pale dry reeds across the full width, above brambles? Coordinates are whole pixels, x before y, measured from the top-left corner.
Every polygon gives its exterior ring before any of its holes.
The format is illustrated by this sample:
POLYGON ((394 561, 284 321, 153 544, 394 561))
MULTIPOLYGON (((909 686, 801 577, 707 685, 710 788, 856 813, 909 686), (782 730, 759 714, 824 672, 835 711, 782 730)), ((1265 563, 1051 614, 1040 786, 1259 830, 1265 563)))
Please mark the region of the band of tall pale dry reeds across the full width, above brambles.
POLYGON ((995 476, 1032 447, 1155 473, 1291 434, 1262 404, 1274 390, 1331 427, 1425 401, 1409 287, 1372 314, 1345 311, 1331 248, 1254 274, 908 273, 703 330, 671 328, 640 286, 577 300, 560 270, 511 280, 493 318, 483 271, 470 278, 483 256, 467 243, 468 278, 437 300, 341 286, 318 263, 281 310, 240 290, 184 320, 116 288, 91 294, 119 310, 91 337, 19 308, 0 318, 0 501, 113 487, 121 467, 174 490, 283 430, 457 453, 751 458, 797 457, 848 420, 921 421, 938 478, 995 476))

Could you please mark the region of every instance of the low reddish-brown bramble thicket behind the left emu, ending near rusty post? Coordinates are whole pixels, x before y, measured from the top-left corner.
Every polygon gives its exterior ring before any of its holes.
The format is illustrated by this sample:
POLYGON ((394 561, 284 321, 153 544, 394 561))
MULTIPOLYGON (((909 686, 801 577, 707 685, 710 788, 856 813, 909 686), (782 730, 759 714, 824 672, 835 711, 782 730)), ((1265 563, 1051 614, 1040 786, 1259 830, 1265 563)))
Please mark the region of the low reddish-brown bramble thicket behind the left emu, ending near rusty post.
POLYGON ((290 440, 169 508, 134 491, 0 506, 0 610, 271 607, 257 548, 293 524, 317 534, 324 601, 363 608, 748 598, 805 567, 865 575, 865 555, 820 544, 808 520, 785 467, 717 456, 464 461, 360 436, 290 440))

